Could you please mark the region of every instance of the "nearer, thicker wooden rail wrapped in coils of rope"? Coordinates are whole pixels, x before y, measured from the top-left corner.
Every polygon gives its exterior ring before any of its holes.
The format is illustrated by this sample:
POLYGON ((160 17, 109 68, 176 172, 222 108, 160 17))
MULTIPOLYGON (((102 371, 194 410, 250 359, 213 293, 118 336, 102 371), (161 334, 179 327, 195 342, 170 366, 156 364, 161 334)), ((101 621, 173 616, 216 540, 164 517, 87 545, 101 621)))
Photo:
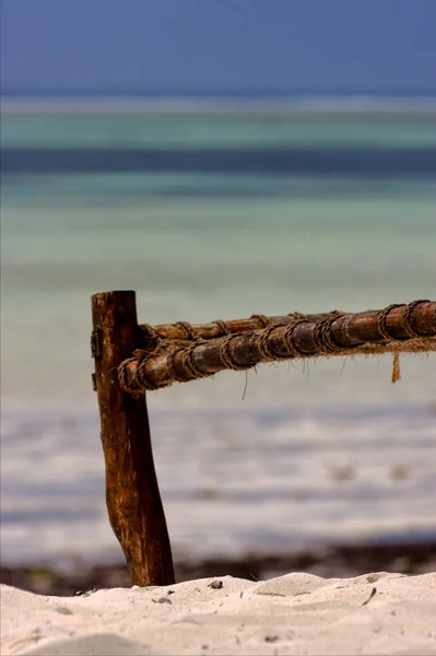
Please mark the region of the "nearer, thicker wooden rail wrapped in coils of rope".
POLYGON ((216 339, 162 340, 123 361, 118 377, 122 389, 139 394, 274 360, 435 350, 436 302, 414 301, 357 314, 291 315, 286 325, 216 339))

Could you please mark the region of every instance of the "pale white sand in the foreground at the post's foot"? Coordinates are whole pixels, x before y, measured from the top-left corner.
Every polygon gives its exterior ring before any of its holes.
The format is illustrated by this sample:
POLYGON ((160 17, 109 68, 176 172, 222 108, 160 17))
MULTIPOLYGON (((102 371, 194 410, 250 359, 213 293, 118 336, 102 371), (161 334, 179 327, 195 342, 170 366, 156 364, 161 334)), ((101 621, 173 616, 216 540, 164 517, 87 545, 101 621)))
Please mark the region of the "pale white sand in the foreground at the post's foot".
POLYGON ((3 585, 1 654, 436 655, 436 573, 212 581, 68 598, 3 585))

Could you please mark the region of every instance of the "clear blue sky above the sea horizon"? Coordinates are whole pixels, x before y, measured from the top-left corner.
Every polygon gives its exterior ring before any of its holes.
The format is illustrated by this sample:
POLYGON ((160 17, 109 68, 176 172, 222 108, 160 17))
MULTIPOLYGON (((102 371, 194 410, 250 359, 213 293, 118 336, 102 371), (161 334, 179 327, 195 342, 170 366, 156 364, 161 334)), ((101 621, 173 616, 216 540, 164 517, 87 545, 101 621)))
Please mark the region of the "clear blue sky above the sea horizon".
POLYGON ((3 92, 435 92, 436 0, 1 0, 3 92))

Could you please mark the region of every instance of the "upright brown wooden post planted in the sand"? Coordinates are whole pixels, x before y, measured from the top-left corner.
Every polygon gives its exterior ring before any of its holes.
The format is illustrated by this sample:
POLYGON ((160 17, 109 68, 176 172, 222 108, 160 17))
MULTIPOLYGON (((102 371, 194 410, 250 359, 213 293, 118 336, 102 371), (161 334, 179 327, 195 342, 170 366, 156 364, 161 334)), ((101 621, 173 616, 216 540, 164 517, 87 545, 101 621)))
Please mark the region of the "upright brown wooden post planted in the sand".
POLYGON ((92 315, 110 525, 125 552, 132 585, 170 585, 175 582, 173 558, 154 470, 145 395, 128 395, 118 384, 118 365, 138 345, 134 292, 95 294, 92 315))

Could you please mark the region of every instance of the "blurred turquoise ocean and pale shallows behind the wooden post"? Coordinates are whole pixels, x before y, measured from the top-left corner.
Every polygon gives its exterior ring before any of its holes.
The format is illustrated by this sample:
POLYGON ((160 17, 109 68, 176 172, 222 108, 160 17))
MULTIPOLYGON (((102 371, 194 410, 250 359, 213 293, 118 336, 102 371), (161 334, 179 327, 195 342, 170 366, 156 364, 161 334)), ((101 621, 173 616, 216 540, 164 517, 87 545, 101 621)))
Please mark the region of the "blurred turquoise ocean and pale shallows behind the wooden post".
MULTIPOLYGON (((150 324, 435 297, 435 102, 15 98, 2 110, 4 563, 120 558, 93 293, 135 290, 150 324)), ((263 365, 149 394, 176 557, 436 537, 436 358, 402 356, 396 385, 391 366, 263 365)))

